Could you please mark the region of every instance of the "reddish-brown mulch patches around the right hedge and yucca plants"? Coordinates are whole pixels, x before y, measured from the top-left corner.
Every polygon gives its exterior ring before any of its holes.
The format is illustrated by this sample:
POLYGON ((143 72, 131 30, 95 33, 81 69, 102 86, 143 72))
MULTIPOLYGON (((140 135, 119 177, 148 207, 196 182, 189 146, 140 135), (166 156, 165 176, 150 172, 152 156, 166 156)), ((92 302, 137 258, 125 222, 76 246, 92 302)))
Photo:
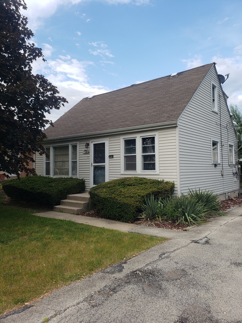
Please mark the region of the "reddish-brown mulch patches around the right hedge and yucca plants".
MULTIPOLYGON (((242 204, 242 196, 237 196, 235 197, 235 200, 229 199, 229 200, 224 200, 222 201, 222 206, 220 208, 221 211, 227 211, 237 205, 242 204)), ((78 215, 82 215, 82 216, 89 216, 92 218, 98 218, 98 219, 102 219, 103 217, 98 213, 97 210, 91 210, 89 212, 85 212, 85 213, 79 213, 78 215)), ((137 225, 141 225, 140 223, 133 223, 133 224, 137 224, 137 225)), ((155 227, 156 228, 163 228, 163 229, 169 229, 169 230, 179 230, 182 231, 183 229, 185 229, 187 226, 186 225, 182 225, 182 224, 174 224, 171 221, 164 221, 161 223, 155 223, 155 227)))

